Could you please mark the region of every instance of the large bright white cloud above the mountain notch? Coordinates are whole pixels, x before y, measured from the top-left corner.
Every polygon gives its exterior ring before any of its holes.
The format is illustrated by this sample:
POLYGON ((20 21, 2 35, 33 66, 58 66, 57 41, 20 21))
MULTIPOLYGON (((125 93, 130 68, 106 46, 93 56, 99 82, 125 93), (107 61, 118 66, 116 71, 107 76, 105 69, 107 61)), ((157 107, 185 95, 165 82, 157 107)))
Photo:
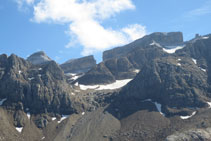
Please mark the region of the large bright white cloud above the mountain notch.
POLYGON ((79 43, 84 47, 82 55, 120 46, 146 34, 145 27, 138 24, 119 30, 102 26, 103 20, 135 9, 132 0, 36 0, 33 7, 34 22, 69 24, 71 40, 66 47, 79 43))

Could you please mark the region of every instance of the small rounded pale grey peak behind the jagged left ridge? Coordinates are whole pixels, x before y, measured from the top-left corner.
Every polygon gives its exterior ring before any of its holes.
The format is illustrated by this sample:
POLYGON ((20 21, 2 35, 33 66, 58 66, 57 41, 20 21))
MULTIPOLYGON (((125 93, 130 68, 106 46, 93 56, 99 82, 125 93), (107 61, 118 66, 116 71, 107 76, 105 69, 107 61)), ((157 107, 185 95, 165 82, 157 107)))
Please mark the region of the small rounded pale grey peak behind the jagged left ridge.
POLYGON ((39 51, 30 55, 27 58, 27 61, 31 62, 34 65, 39 65, 39 64, 47 63, 51 61, 51 59, 43 51, 39 51))

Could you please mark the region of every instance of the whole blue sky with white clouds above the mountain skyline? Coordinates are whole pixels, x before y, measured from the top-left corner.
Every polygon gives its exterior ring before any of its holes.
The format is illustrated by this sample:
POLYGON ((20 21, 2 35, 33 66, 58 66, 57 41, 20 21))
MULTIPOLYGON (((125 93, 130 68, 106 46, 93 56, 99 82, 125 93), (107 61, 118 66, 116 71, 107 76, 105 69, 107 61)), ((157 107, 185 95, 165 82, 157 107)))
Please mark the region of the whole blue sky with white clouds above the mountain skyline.
POLYGON ((1 0, 0 54, 63 63, 152 32, 211 33, 211 0, 1 0))

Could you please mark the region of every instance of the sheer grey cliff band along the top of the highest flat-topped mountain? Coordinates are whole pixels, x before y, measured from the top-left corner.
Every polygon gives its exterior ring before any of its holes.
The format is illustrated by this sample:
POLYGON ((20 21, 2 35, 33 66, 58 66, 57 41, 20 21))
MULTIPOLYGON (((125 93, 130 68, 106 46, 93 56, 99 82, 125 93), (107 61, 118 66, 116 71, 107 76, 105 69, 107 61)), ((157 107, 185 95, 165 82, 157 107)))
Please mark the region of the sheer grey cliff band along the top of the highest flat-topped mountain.
POLYGON ((125 56, 135 48, 149 45, 153 41, 159 43, 162 46, 175 46, 183 44, 183 35, 181 32, 152 33, 123 47, 117 47, 103 52, 103 60, 105 61, 111 58, 125 56))

